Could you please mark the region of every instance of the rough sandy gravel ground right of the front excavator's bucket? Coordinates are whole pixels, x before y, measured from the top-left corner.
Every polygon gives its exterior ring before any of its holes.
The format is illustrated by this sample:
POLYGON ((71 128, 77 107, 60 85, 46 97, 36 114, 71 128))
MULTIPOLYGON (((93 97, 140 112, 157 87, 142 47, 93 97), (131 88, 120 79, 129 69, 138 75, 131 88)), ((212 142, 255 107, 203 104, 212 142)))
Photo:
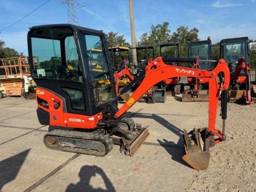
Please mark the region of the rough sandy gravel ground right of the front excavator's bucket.
POLYGON ((228 103, 227 140, 210 149, 208 169, 191 172, 187 191, 256 191, 255 123, 255 104, 228 103))

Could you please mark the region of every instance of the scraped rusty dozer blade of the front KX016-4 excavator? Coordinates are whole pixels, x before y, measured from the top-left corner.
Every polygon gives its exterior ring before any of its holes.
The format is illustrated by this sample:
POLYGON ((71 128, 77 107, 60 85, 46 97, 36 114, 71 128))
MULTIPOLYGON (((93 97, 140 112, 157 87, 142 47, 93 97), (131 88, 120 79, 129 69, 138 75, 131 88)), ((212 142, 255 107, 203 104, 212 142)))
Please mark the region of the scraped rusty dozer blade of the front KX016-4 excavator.
POLYGON ((112 137, 116 145, 120 145, 120 152, 124 152, 125 155, 133 156, 139 147, 147 139, 149 132, 148 127, 141 127, 141 124, 136 124, 135 131, 126 131, 129 135, 134 135, 133 138, 124 138, 121 135, 119 138, 112 137))

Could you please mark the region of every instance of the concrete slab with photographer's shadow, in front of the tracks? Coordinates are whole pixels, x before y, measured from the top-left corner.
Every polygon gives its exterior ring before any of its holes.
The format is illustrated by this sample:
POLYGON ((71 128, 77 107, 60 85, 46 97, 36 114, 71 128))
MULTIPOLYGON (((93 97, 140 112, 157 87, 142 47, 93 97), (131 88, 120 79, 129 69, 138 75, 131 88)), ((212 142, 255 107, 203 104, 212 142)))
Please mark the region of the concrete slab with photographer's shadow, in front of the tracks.
MULTIPOLYGON (((172 149, 172 155, 182 151, 172 149)), ((145 145, 134 157, 117 147, 104 157, 80 155, 33 191, 49 191, 53 183, 58 191, 184 191, 189 168, 171 158, 169 149, 145 145)))

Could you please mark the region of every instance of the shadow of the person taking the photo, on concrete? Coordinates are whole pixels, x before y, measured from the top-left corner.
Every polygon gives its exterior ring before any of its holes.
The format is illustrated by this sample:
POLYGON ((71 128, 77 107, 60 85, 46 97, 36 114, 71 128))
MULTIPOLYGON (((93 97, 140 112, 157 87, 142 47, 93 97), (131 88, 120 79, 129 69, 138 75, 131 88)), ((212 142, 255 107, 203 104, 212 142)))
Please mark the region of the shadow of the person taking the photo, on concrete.
POLYGON ((98 166, 89 166, 85 165, 81 168, 79 172, 80 181, 77 184, 69 184, 66 192, 114 192, 116 191, 114 186, 112 185, 111 181, 108 179, 105 172, 98 166), (90 185, 90 180, 93 176, 96 176, 96 173, 99 174, 102 180, 105 183, 107 189, 102 188, 93 188, 90 185))

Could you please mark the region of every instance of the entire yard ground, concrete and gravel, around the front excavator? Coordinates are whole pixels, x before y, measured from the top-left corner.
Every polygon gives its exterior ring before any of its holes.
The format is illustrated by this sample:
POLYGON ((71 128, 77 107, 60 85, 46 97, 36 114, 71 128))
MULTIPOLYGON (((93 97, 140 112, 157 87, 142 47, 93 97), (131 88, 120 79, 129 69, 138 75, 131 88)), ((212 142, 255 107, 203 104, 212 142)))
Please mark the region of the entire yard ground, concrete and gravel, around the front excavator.
POLYGON ((255 104, 228 103, 227 140, 210 148, 209 167, 197 171, 181 159, 182 134, 208 125, 208 102, 167 97, 165 103, 136 103, 126 116, 149 125, 146 142, 133 157, 118 146, 96 157, 47 149, 48 126, 38 123, 36 101, 4 98, 0 191, 256 191, 255 112, 255 104))

